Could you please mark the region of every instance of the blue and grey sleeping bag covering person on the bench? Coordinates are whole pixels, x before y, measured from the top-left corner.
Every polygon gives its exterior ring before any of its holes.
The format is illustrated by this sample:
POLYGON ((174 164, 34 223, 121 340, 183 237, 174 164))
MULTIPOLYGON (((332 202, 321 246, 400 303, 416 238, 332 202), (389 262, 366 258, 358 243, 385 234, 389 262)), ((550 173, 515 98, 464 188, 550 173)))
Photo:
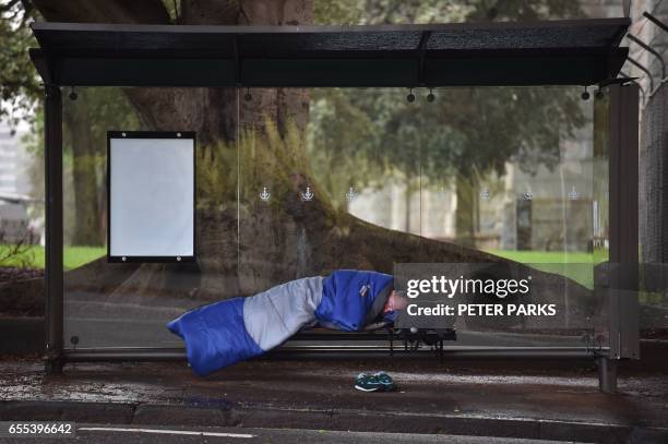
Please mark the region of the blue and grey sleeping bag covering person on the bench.
POLYGON ((200 376, 259 356, 305 326, 360 331, 382 312, 393 277, 342 269, 188 311, 167 324, 200 376))

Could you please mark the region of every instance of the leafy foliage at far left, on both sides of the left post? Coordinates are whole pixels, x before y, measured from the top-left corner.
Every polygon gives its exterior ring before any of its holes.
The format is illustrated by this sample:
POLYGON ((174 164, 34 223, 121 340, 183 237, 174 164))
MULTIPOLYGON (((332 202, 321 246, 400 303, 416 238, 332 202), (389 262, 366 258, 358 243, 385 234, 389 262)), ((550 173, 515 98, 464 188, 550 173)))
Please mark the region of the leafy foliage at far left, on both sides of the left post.
MULTIPOLYGON (((21 118, 32 123, 28 149, 37 157, 44 153, 41 85, 31 62, 28 49, 37 47, 29 23, 40 19, 29 0, 4 1, 0 5, 0 118, 16 124, 21 118)), ((63 156, 68 209, 65 237, 76 244, 102 244, 104 236, 105 140, 109 129, 138 128, 134 110, 118 88, 76 91, 76 100, 63 91, 63 156)), ((39 168, 29 168, 35 184, 43 183, 39 168)), ((40 187, 35 197, 41 197, 40 187)))

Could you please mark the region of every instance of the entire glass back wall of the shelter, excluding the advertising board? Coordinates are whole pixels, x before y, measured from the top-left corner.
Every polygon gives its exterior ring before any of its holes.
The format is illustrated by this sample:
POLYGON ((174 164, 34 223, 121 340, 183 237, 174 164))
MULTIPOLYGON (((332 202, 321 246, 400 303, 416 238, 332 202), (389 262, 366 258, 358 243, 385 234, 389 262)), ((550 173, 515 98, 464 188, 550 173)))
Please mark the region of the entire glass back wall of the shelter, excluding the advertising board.
MULTIPOLYGON (((593 172, 607 157, 593 156, 593 100, 580 101, 576 88, 548 89, 439 88, 433 101, 427 89, 415 91, 414 101, 404 88, 235 91, 237 117, 226 137, 198 134, 199 260, 186 266, 105 263, 106 131, 146 128, 120 88, 77 88, 76 100, 63 100, 65 346, 180 346, 165 324, 184 310, 336 268, 392 273, 395 262, 446 260, 434 256, 434 242, 541 262, 535 267, 588 287, 592 251, 605 257, 607 248, 607 173, 593 172), (486 110, 490 97, 499 107, 486 110), (546 97, 574 105, 553 117, 546 97), (303 112, 286 111, 299 103, 309 105, 303 112), (544 128, 529 121, 539 120, 536 104, 544 104, 545 122, 560 127, 556 137, 541 139, 544 128), (520 106, 535 116, 510 117, 520 106), (572 125, 570 135, 562 124, 572 125), (512 131, 533 144, 522 146, 524 157, 501 161, 496 151, 512 142, 512 131), (469 140, 478 133, 485 139, 469 140), (490 149, 472 149, 485 144, 490 149), (95 227, 86 229, 90 238, 77 228, 85 224, 95 227), (81 267, 97 257, 100 266, 81 267)), ((151 129, 174 131, 172 123, 151 129)), ((570 298, 580 307, 566 287, 560 303, 570 298)), ((604 316, 604 304, 592 300, 588 313, 604 316)), ((553 327, 573 340, 538 337, 532 345, 582 345, 592 340, 591 326, 586 316, 563 316, 553 327), (589 333, 573 336, 583 328, 589 333)), ((489 335, 463 335, 457 345, 469 343, 502 345, 489 335)))

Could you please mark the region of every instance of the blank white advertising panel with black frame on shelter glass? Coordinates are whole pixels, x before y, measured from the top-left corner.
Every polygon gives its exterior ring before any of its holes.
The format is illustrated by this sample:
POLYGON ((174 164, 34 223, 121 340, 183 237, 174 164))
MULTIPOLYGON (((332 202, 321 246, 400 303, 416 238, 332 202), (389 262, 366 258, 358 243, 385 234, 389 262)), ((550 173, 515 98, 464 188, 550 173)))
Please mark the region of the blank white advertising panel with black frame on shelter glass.
POLYGON ((194 132, 107 133, 109 262, 195 257, 194 132))

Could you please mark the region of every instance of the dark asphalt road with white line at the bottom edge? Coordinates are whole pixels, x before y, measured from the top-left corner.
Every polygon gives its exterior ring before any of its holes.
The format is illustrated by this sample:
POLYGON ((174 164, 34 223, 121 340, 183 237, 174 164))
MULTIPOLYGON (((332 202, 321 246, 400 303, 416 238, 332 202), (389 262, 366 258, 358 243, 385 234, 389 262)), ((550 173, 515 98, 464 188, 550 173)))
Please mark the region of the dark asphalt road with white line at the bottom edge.
MULTIPOLYGON (((10 442, 10 441, 0 441, 10 442)), ((22 439, 21 443, 230 443, 230 444, 294 444, 294 443, 341 443, 341 444, 387 444, 387 443, 449 443, 449 444, 549 444, 554 441, 517 440, 490 436, 461 436, 416 433, 337 432, 301 429, 242 429, 242 428, 163 428, 154 425, 105 425, 79 424, 76 437, 22 439)))

